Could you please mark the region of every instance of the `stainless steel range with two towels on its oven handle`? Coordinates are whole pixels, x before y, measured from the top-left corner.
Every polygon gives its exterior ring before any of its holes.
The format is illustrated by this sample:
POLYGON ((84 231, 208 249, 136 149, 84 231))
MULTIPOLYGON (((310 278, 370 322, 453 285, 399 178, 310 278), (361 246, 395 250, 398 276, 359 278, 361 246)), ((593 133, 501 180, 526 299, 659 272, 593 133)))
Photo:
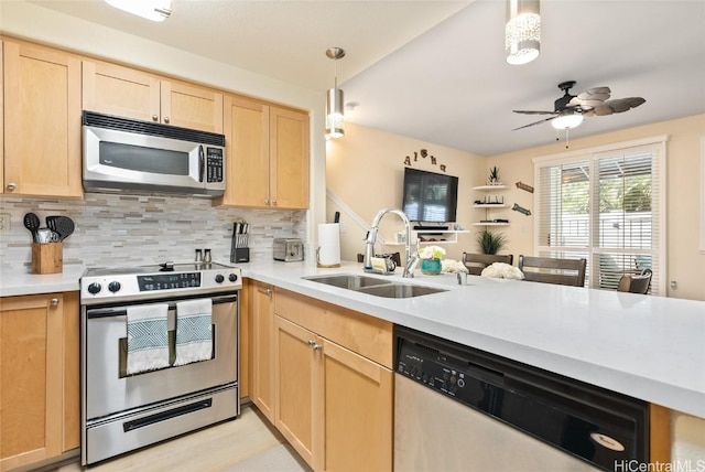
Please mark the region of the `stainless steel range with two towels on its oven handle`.
POLYGON ((83 465, 240 414, 241 288, 218 264, 84 273, 83 465))

